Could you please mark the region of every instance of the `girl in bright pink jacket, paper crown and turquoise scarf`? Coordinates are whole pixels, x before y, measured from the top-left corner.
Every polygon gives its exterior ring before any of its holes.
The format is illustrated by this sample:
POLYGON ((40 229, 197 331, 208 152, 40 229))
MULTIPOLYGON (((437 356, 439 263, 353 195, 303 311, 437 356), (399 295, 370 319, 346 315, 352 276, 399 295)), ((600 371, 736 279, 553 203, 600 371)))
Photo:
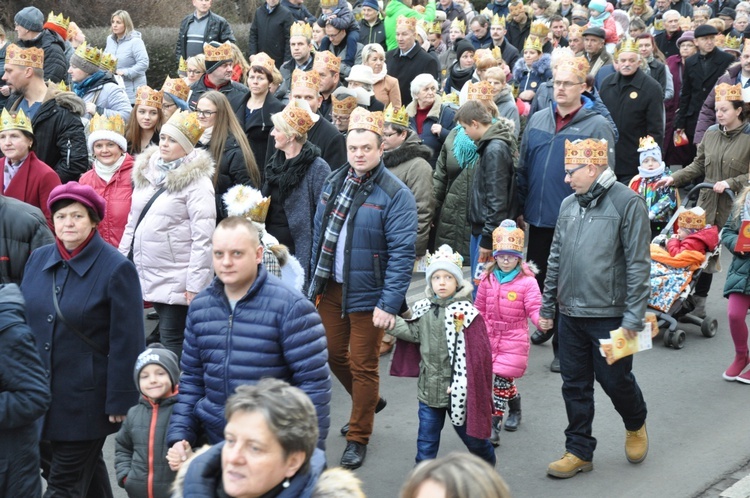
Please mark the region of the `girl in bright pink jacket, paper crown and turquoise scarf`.
POLYGON ((526 371, 529 362, 529 323, 539 322, 542 294, 534 275, 533 263, 523 260, 523 230, 512 220, 503 221, 492 232, 491 263, 479 283, 474 306, 487 326, 492 347, 494 373, 492 399, 492 437, 500 444, 503 416, 508 409, 506 431, 515 431, 521 422, 521 396, 515 379, 526 371))

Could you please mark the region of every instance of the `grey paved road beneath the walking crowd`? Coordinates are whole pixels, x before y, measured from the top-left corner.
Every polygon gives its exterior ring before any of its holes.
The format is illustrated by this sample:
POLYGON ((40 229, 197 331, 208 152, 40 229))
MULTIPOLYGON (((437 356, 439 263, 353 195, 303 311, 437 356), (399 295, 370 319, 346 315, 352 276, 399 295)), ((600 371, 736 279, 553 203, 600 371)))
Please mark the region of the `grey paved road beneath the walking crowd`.
MULTIPOLYGON (((724 255, 725 267, 729 258, 724 255)), ((497 450, 498 471, 518 497, 693 497, 750 462, 748 395, 750 386, 722 380, 733 358, 721 297, 725 274, 714 278, 708 310, 719 321, 716 337, 706 339, 685 325, 685 348, 665 348, 660 338, 652 351, 639 353, 634 372, 648 403, 651 448, 640 465, 624 454, 624 428, 609 398, 596 389, 594 435, 599 441, 594 471, 573 479, 545 475, 547 464, 564 451, 565 408, 559 375, 549 371, 552 346, 532 346, 529 369, 519 380, 523 422, 515 433, 504 432, 497 450)), ((414 279, 409 302, 421 297, 423 278, 414 279)), ((389 357, 381 361, 381 393, 387 408, 376 416, 375 432, 364 467, 357 471, 370 498, 392 498, 414 465, 417 432, 416 379, 388 375, 389 357)), ((338 428, 349 416, 346 392, 334 380, 332 430, 328 463, 335 466, 345 440, 338 428)), ((440 454, 465 451, 448 423, 440 454)), ((111 446, 107 458, 113 460, 111 446)), ((713 488, 716 489, 715 487, 713 488)), ((116 496, 125 498, 118 489, 116 496)), ((713 495, 716 496, 716 495, 713 495)))

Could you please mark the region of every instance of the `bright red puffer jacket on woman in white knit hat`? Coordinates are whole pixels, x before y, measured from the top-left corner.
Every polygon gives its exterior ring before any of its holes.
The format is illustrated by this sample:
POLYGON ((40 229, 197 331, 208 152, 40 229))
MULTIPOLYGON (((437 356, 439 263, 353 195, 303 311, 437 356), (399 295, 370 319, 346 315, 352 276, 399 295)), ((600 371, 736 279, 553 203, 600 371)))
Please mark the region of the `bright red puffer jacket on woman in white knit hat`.
POLYGON ((104 211, 104 219, 97 229, 108 244, 119 247, 125 225, 128 223, 130 213, 130 202, 133 198, 133 181, 130 175, 133 172, 133 156, 125 154, 125 161, 117 172, 106 183, 90 169, 81 176, 79 183, 91 186, 97 194, 107 201, 104 211))

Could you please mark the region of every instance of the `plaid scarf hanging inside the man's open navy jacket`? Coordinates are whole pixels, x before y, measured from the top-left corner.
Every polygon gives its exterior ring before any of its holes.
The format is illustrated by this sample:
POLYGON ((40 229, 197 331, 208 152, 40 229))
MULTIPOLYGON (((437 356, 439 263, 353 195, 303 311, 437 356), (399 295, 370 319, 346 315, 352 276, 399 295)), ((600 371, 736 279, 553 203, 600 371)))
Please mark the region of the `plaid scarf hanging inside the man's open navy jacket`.
POLYGON ((341 234, 341 228, 344 226, 346 217, 349 215, 352 200, 362 184, 370 178, 371 173, 371 171, 368 171, 366 174, 358 177, 354 174, 354 170, 349 168, 349 173, 346 175, 346 180, 344 180, 344 186, 336 197, 333 209, 331 210, 331 221, 326 226, 326 231, 323 235, 318 265, 315 267, 315 274, 313 275, 308 293, 308 297, 311 300, 315 300, 325 290, 325 285, 333 269, 336 244, 339 240, 339 234, 341 234))

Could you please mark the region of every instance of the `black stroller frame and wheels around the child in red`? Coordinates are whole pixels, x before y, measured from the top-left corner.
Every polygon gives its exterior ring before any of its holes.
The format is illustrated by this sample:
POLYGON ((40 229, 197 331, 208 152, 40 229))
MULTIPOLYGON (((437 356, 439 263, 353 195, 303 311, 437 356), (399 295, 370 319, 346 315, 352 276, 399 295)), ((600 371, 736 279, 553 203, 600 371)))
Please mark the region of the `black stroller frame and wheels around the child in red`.
MULTIPOLYGON (((683 199, 682 207, 688 209, 692 207, 698 199, 698 194, 702 189, 713 189, 713 183, 700 183, 693 187, 683 199)), ((729 189, 724 191, 732 200, 734 200, 734 192, 729 189)), ((669 220, 669 223, 662 233, 653 240, 653 244, 666 245, 666 240, 674 232, 674 223, 677 220, 677 213, 669 220)), ((706 257, 700 263, 699 266, 690 275, 690 281, 687 286, 682 289, 679 295, 676 296, 669 309, 665 312, 656 309, 652 306, 652 300, 649 300, 649 311, 652 311, 657 318, 659 324, 659 331, 663 332, 662 340, 666 347, 672 347, 674 349, 682 349, 685 346, 685 331, 678 327, 678 321, 683 323, 692 323, 698 325, 701 328, 701 333, 705 337, 713 337, 716 335, 719 323, 715 318, 706 315, 705 318, 700 318, 692 314, 695 309, 695 305, 692 300, 693 293, 695 291, 695 285, 698 282, 698 278, 701 273, 706 270, 709 265, 709 261, 712 259, 717 260, 721 254, 721 244, 719 243, 713 251, 707 252, 706 257)), ((686 279, 687 280, 687 279, 686 279)), ((652 296, 653 297, 653 296, 652 296)))

